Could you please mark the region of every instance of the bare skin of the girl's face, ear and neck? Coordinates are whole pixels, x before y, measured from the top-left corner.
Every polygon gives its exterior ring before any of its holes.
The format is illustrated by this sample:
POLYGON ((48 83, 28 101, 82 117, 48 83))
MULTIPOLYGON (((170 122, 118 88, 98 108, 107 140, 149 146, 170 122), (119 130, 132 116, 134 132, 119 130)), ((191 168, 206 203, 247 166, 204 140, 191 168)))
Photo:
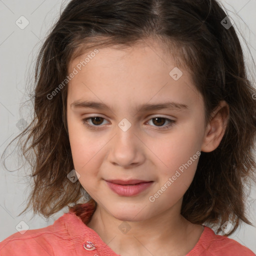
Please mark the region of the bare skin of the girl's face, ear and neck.
MULTIPOLYGON (((69 72, 88 53, 69 63, 69 72)), ((221 101, 204 126, 204 105, 187 70, 174 80, 169 72, 176 67, 160 42, 147 40, 132 47, 100 48, 68 84, 67 126, 75 170, 79 182, 97 202, 87 224, 117 254, 185 255, 198 241, 203 227, 180 214, 183 194, 189 187, 198 163, 187 169, 154 202, 154 195, 175 171, 197 151, 214 150, 223 137, 228 106, 221 101), (75 100, 103 102, 107 109, 71 106, 75 100), (186 109, 140 111, 143 103, 170 100, 186 109), (98 122, 87 119, 103 117, 98 122), (157 125, 156 117, 163 119, 157 125), (118 123, 131 124, 123 131, 118 123), (174 123, 168 122, 175 120, 174 123), (165 122, 164 122, 165 120, 165 122), (160 129, 163 126, 170 126, 160 129), (98 124, 98 125, 97 125, 98 124), (152 180, 135 196, 120 196, 105 179, 152 180), (122 233, 118 226, 130 226, 122 233)))

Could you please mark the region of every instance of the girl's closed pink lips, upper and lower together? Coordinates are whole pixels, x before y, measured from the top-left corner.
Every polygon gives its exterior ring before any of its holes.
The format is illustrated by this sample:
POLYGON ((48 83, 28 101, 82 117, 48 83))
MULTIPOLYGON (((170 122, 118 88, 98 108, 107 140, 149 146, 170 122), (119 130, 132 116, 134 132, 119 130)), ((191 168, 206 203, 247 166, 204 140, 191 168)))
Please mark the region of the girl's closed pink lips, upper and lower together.
POLYGON ((105 180, 107 185, 110 187, 118 195, 122 196, 132 196, 136 195, 147 187, 149 187, 153 181, 145 181, 139 179, 132 179, 132 180, 105 180))

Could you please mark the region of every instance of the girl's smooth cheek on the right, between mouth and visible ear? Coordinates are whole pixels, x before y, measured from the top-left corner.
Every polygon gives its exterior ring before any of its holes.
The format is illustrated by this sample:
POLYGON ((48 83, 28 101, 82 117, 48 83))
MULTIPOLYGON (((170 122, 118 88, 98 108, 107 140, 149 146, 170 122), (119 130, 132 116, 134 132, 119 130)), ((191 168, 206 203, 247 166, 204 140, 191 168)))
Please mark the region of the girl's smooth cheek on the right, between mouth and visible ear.
POLYGON ((199 160, 202 134, 203 122, 196 120, 179 125, 168 138, 154 140, 154 152, 160 159, 158 184, 151 194, 156 204, 162 200, 176 202, 188 189, 199 160))

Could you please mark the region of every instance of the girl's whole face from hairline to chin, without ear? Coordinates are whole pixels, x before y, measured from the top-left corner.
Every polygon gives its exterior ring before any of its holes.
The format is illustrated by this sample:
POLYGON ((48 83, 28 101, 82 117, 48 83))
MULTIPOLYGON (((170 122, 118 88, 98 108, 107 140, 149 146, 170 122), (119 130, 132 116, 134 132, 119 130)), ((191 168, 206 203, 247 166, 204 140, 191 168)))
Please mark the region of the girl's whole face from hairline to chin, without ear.
POLYGON ((148 219, 180 201, 193 179, 202 96, 156 41, 91 52, 69 64, 77 70, 67 126, 78 181, 115 218, 148 219))

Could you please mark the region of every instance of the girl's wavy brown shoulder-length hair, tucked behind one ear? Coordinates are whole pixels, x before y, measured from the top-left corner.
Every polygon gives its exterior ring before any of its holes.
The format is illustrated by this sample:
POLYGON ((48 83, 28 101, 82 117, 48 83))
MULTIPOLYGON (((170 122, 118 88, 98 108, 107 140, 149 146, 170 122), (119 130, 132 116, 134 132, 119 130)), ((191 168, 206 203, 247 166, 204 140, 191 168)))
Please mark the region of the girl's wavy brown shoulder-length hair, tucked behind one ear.
POLYGON ((240 221, 251 224, 245 215, 244 184, 254 178, 256 168, 256 91, 234 27, 221 24, 226 16, 216 0, 71 0, 40 49, 34 118, 18 135, 27 135, 22 152, 34 180, 25 210, 32 205, 34 213, 49 217, 68 205, 77 215, 84 213, 77 203, 84 189, 67 178, 74 168, 66 125, 67 86, 47 98, 66 78, 70 60, 95 47, 157 38, 163 45, 175 45, 176 58, 190 70, 204 99, 205 123, 220 100, 229 105, 225 134, 215 150, 201 152, 181 214, 192 223, 216 225, 217 232, 230 220, 234 228, 229 234, 240 221))

